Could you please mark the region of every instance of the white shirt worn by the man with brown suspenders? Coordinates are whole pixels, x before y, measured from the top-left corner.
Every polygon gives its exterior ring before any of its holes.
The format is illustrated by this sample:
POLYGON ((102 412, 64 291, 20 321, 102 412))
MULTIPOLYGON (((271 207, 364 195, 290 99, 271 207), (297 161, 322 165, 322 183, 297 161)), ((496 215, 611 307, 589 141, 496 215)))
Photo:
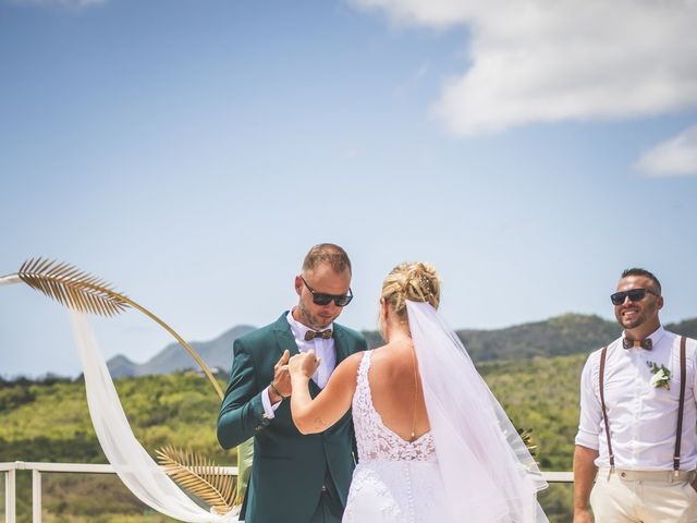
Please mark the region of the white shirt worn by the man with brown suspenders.
MULTIPOLYGON (((663 327, 649 338, 650 351, 624 349, 621 338, 608 345, 604 372, 604 398, 610 423, 610 438, 617 469, 636 471, 672 470, 677 408, 680 399, 680 336, 663 327), (648 362, 670 369, 670 389, 650 385, 648 362)), ((697 390, 695 340, 688 339, 686 355, 685 408, 681 445, 681 470, 697 465, 695 423, 697 390)), ((580 377, 580 421, 575 442, 599 451, 596 465, 609 467, 608 441, 600 403, 600 352, 588 356, 580 377)))

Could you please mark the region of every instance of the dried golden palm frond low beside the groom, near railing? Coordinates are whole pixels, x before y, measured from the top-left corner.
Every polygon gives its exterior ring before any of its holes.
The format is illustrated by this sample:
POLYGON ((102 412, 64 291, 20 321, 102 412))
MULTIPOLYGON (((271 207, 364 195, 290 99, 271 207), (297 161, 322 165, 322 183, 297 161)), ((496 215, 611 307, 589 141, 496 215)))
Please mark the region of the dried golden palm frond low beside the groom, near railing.
POLYGON ((230 512, 235 498, 235 482, 223 467, 191 450, 167 446, 157 451, 164 472, 184 490, 193 494, 219 514, 230 512))

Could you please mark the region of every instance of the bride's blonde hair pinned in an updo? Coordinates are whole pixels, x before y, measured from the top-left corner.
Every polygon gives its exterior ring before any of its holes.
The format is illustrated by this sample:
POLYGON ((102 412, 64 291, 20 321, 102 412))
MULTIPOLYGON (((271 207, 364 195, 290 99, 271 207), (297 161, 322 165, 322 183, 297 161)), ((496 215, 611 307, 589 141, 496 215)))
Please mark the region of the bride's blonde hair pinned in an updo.
POLYGON ((440 279, 436 267, 420 262, 406 262, 393 268, 382 282, 382 300, 400 319, 406 319, 406 301, 440 304, 440 279))

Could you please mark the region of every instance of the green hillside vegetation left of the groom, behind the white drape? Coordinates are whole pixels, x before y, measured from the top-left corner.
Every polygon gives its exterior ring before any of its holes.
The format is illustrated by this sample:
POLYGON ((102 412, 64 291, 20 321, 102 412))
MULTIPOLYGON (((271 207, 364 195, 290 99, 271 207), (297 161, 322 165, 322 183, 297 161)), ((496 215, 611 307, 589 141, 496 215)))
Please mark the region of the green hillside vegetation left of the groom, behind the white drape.
MULTIPOLYGON (((222 384, 224 387, 224 384, 222 384)), ((234 464, 216 438, 220 402, 196 373, 115 381, 140 443, 155 455, 164 445, 189 448, 221 465, 234 464)), ((0 379, 0 462, 107 463, 91 426, 81 380, 0 379)), ((136 500, 115 476, 44 474, 44 521, 173 521, 136 500)), ((17 471, 17 521, 32 521, 32 476, 17 471)))

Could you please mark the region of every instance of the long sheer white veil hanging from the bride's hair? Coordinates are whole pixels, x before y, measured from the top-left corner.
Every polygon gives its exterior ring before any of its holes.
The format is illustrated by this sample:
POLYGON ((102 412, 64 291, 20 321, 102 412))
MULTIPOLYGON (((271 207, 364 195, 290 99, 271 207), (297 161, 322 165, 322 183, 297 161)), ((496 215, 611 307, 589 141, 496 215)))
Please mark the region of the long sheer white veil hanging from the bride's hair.
POLYGON ((464 345, 430 304, 406 308, 451 521, 546 523, 547 482, 464 345))

